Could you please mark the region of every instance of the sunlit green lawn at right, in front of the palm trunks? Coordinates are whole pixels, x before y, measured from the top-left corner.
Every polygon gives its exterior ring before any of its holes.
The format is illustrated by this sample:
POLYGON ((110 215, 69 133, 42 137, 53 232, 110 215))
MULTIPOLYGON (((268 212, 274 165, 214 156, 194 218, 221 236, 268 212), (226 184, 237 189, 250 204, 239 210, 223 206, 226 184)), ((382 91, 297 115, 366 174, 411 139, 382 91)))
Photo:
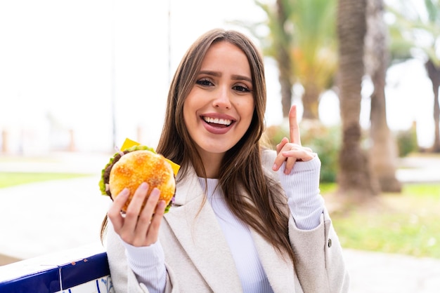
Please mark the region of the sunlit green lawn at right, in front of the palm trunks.
POLYGON ((343 247, 440 259, 439 209, 440 184, 414 184, 333 212, 332 222, 343 247))

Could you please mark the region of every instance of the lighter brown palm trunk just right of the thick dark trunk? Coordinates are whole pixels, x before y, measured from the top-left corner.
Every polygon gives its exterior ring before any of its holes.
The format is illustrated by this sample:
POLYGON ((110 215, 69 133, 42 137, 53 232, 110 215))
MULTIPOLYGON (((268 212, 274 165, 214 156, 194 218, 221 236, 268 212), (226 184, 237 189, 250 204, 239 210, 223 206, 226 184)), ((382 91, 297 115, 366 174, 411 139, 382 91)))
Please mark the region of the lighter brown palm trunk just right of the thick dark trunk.
POLYGON ((385 82, 388 50, 383 13, 383 0, 368 0, 364 60, 374 86, 370 110, 370 162, 382 191, 401 192, 401 183, 396 179, 397 145, 387 124, 385 82))

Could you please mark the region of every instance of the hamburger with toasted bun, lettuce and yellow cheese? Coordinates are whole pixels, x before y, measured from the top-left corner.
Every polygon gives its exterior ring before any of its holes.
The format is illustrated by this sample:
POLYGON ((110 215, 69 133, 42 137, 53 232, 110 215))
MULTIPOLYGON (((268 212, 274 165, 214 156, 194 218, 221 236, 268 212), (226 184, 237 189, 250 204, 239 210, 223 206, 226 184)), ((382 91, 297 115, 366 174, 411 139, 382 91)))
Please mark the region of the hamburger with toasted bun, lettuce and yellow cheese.
POLYGON ((122 207, 122 212, 126 212, 134 192, 142 182, 148 183, 148 191, 141 208, 145 206, 151 191, 157 188, 160 190, 159 200, 167 203, 167 212, 176 192, 174 170, 170 161, 156 154, 150 147, 136 145, 116 153, 102 170, 99 187, 101 193, 110 196, 112 200, 124 188, 129 189, 129 198, 122 207))

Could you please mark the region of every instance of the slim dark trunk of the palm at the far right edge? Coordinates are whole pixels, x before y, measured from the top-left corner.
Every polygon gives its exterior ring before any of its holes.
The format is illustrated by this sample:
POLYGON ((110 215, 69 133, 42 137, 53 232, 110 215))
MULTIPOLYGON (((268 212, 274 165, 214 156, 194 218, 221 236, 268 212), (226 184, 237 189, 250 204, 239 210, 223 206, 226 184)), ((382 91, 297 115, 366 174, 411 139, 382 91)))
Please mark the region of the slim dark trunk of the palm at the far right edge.
POLYGON ((432 90, 434 91, 434 144, 432 151, 440 153, 440 107, 439 107, 439 86, 440 86, 440 68, 436 67, 432 60, 428 60, 425 64, 427 74, 432 82, 432 90))

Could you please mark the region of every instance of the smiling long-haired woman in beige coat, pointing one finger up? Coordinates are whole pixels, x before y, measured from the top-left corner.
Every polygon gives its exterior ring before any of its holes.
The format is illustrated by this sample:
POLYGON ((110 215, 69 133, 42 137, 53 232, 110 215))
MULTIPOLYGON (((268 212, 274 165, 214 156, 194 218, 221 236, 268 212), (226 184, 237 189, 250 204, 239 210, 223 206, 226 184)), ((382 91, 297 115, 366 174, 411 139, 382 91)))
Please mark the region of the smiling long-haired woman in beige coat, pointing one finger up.
POLYGON ((189 48, 168 95, 157 152, 181 165, 164 214, 141 184, 108 211, 117 292, 347 292, 342 249, 319 193, 321 162, 290 139, 259 143, 266 85, 257 48, 215 29, 189 48))

